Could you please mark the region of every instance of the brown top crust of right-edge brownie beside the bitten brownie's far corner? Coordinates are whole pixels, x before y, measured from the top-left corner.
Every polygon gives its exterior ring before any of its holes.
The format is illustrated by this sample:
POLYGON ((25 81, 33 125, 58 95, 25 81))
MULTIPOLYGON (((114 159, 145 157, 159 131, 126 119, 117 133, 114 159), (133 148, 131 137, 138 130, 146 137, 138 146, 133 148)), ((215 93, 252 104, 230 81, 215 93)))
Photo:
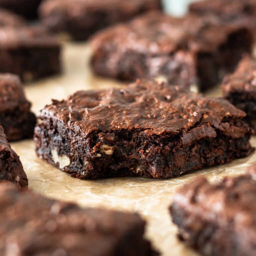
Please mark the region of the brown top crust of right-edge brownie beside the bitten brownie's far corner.
POLYGON ((247 96, 256 98, 256 60, 245 55, 236 71, 224 78, 222 90, 224 96, 239 93, 242 97, 246 93, 247 96))

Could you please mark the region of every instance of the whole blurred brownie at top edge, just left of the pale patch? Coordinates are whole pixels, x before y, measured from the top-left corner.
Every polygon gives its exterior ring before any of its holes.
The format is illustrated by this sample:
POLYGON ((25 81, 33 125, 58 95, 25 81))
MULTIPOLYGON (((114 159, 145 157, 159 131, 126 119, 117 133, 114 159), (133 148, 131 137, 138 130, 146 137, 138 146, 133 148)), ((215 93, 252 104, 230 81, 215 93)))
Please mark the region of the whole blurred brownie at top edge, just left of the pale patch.
POLYGON ((111 24, 161 8, 161 0, 45 0, 39 16, 51 30, 68 32, 75 40, 86 40, 111 24))

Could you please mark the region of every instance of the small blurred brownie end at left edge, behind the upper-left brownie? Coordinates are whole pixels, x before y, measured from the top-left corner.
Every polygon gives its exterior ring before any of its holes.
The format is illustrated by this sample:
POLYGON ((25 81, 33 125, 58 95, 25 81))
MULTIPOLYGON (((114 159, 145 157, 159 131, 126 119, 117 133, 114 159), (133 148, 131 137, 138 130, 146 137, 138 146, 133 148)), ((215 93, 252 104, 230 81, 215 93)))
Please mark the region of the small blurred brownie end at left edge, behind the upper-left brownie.
POLYGON ((0 17, 0 27, 21 27, 27 25, 27 22, 23 17, 3 8, 0 8, 0 17))

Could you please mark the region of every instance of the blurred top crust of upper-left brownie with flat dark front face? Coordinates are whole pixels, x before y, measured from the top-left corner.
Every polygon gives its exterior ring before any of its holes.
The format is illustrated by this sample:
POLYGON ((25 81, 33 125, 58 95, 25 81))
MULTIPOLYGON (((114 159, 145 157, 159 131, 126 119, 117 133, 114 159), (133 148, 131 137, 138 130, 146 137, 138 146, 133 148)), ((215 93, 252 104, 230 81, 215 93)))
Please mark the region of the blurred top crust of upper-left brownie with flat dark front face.
POLYGON ((0 48, 59 47, 59 41, 43 27, 1 27, 0 48))

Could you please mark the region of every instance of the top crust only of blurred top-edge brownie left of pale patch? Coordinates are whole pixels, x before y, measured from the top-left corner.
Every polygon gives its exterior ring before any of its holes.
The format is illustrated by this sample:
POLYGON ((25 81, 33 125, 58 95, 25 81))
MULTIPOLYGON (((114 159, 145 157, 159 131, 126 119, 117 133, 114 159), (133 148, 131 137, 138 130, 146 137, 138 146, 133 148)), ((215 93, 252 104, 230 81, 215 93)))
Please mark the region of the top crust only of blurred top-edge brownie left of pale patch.
POLYGON ((161 7, 159 0, 47 0, 40 6, 41 14, 64 12, 68 16, 79 17, 85 12, 99 11, 104 12, 119 10, 123 13, 137 13, 141 9, 156 9, 161 7))

